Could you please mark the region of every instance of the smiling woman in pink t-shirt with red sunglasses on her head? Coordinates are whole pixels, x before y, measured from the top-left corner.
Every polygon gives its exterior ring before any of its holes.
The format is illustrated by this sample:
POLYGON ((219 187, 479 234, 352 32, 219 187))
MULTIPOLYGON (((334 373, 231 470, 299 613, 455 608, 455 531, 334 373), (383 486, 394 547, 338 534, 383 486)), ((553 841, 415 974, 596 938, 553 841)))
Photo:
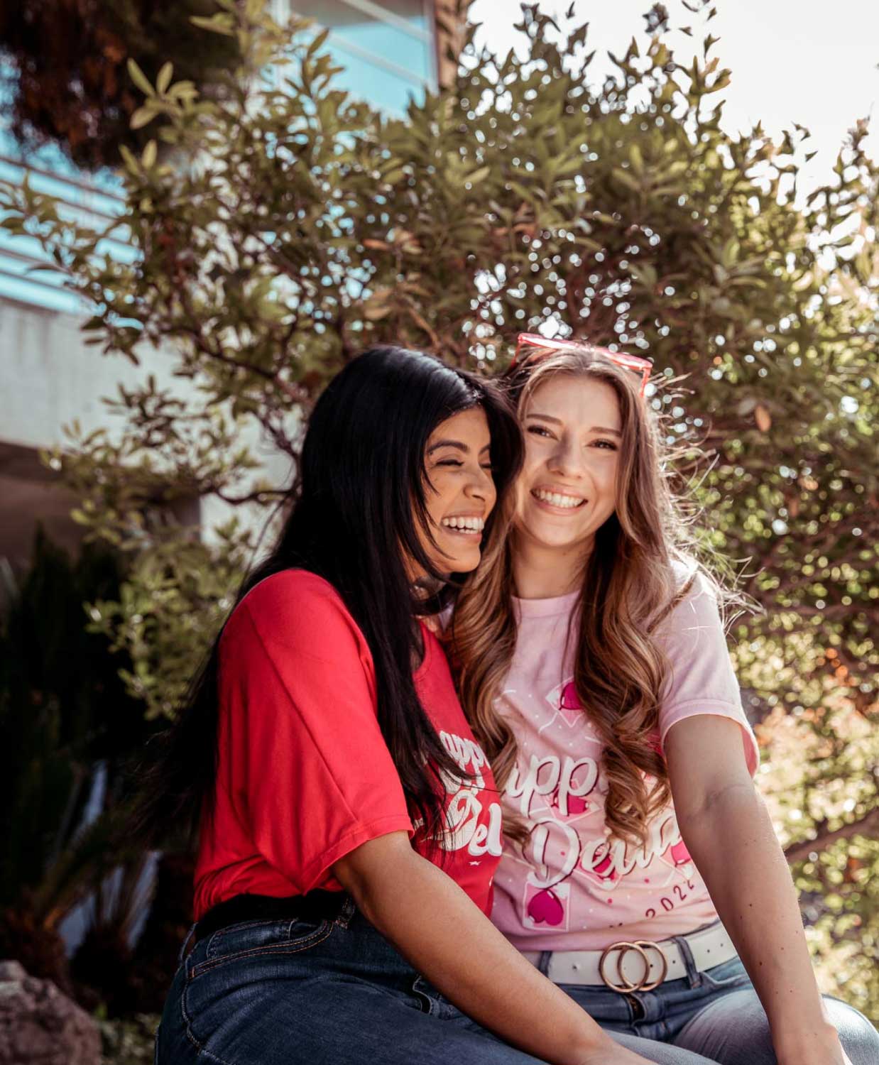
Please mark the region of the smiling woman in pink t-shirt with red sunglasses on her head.
POLYGON ((512 528, 446 630, 504 796, 492 920, 646 1056, 876 1065, 875 1029, 817 989, 649 374, 523 334, 505 376, 525 437, 512 528))

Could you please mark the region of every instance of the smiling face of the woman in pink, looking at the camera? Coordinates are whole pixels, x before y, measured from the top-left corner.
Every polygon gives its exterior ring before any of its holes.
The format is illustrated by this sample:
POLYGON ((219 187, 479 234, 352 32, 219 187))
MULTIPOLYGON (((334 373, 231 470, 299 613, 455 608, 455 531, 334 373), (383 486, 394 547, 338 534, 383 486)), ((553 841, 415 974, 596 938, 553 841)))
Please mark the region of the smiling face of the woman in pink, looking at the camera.
POLYGON ((522 412, 525 462, 517 485, 517 544, 563 552, 580 564, 614 513, 622 419, 614 389, 556 374, 522 412))

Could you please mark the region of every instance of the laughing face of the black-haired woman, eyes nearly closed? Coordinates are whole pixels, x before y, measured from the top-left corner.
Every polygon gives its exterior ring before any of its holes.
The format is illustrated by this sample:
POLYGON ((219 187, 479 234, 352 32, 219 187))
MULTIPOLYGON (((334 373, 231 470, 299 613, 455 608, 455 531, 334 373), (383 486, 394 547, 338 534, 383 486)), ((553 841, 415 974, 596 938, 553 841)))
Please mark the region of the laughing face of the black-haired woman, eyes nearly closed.
POLYGON ((497 498, 490 444, 482 407, 440 422, 427 441, 425 502, 436 546, 424 536, 422 543, 441 573, 469 573, 479 564, 483 528, 497 498))

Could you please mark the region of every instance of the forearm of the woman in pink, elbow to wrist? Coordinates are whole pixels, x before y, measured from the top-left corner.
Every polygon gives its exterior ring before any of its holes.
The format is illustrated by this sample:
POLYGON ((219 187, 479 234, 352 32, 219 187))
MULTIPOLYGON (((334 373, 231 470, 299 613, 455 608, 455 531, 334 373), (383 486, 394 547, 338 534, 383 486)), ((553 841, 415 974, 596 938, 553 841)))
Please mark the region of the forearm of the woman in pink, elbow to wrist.
POLYGON ((835 1041, 825 1020, 787 863, 750 784, 681 816, 684 841, 753 982, 776 1052, 835 1041))

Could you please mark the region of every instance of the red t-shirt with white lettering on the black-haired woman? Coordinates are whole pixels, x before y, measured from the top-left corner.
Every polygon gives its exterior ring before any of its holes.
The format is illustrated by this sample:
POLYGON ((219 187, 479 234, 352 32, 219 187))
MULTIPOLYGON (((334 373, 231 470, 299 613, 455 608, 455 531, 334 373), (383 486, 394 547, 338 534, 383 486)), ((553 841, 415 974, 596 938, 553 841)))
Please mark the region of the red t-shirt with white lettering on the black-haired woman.
MULTIPOLYGON (((472 782, 443 780, 447 829, 434 861, 485 913, 501 806, 436 637, 414 673, 443 746, 472 782)), ((216 803, 199 839, 195 917, 234 895, 340 890, 329 869, 413 825, 376 716, 372 655, 336 589, 305 570, 262 580, 219 642, 216 803)), ((427 856, 423 834, 412 846, 427 856)))

